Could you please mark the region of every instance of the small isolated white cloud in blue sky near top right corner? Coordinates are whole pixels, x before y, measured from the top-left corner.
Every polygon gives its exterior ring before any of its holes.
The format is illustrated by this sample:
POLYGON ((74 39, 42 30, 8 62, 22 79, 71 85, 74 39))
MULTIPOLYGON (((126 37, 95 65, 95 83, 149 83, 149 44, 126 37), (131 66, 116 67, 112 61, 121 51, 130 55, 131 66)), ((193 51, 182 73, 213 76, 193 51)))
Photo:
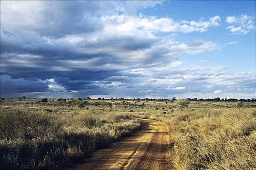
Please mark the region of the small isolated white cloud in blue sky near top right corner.
POLYGON ((247 34, 251 30, 255 30, 253 17, 241 14, 240 16, 228 16, 226 22, 231 24, 226 27, 232 34, 247 34))

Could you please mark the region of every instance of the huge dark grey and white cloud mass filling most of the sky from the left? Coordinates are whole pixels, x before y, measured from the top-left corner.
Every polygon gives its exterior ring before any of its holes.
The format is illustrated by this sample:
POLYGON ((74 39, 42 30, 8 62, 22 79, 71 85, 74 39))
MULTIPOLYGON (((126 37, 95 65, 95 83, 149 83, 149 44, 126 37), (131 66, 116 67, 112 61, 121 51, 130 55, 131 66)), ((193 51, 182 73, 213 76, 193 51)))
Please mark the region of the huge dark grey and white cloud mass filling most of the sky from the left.
POLYGON ((1 1, 1 96, 170 98, 206 96, 216 89, 253 95, 254 73, 234 75, 182 61, 184 55, 197 57, 221 46, 200 39, 182 42, 173 33, 205 32, 219 26, 220 17, 135 14, 159 5, 1 1))

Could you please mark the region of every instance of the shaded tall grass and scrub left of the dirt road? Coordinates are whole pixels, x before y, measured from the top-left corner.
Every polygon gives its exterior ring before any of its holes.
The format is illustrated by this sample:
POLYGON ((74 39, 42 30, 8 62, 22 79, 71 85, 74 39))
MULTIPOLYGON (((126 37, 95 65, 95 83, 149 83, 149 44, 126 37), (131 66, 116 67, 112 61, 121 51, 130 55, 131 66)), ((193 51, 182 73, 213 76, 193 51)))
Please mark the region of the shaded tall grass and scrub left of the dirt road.
POLYGON ((0 169, 53 169, 79 161, 139 128, 118 113, 0 110, 0 169))

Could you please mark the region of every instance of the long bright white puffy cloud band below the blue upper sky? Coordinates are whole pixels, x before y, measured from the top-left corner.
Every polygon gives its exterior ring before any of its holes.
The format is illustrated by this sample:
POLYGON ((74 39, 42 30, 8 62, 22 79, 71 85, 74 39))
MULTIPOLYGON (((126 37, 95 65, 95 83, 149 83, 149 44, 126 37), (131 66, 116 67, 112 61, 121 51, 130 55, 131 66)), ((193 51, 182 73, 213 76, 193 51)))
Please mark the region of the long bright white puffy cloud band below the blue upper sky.
POLYGON ((208 21, 176 21, 169 17, 131 17, 124 15, 104 16, 101 18, 102 22, 112 24, 117 27, 118 31, 146 31, 148 34, 157 32, 164 33, 191 33, 191 32, 205 32, 210 27, 219 26, 221 21, 219 16, 211 17, 208 21))

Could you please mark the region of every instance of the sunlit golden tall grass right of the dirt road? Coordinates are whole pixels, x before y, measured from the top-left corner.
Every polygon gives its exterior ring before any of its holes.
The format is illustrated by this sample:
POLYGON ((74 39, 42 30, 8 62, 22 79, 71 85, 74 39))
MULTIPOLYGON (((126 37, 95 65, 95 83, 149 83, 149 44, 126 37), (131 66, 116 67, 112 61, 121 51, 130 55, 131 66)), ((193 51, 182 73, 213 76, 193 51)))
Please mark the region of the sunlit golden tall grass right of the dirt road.
POLYGON ((170 125, 176 170, 255 170, 256 110, 184 109, 144 112, 170 125))

